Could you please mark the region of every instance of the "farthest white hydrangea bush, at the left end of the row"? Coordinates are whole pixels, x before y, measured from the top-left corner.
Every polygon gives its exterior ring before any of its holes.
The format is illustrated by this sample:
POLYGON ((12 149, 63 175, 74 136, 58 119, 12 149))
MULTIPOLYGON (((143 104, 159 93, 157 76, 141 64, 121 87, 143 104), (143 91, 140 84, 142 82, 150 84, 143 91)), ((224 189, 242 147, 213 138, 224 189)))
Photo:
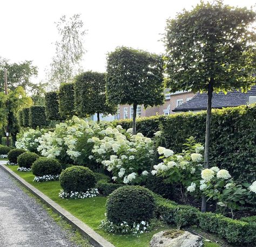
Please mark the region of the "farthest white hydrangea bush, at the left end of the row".
POLYGON ((33 152, 39 146, 38 138, 42 136, 44 130, 38 131, 35 129, 29 129, 23 133, 22 136, 18 136, 18 140, 15 142, 16 148, 21 148, 26 151, 33 152))

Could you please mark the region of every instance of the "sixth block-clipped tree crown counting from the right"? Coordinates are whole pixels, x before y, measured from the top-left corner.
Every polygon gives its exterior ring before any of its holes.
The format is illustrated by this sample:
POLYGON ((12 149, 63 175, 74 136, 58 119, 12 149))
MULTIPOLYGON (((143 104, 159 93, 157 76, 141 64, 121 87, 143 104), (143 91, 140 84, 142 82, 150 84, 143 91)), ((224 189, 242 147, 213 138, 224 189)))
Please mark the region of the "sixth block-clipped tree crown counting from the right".
POLYGON ((31 106, 29 109, 29 126, 31 128, 48 125, 44 106, 31 106))

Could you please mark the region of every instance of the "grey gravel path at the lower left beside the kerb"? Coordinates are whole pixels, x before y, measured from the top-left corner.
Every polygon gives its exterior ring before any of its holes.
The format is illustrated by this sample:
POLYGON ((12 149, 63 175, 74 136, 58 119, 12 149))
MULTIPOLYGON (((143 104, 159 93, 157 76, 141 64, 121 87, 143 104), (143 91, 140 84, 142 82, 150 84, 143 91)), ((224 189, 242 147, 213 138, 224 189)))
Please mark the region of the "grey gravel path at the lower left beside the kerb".
MULTIPOLYGON (((3 163, 0 161, 0 163, 3 163)), ((75 247, 65 230, 0 168, 0 246, 75 247)))

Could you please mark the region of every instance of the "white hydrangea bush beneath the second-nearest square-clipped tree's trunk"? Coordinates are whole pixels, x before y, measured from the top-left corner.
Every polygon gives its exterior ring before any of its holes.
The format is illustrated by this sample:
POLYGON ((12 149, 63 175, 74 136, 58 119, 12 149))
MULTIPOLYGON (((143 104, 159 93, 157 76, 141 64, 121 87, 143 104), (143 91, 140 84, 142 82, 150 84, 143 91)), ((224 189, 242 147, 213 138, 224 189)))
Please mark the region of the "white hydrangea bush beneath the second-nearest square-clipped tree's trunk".
POLYGON ((139 184, 147 179, 153 159, 153 141, 142 133, 131 134, 122 126, 107 127, 88 142, 94 143, 90 159, 111 171, 112 179, 125 184, 139 184))

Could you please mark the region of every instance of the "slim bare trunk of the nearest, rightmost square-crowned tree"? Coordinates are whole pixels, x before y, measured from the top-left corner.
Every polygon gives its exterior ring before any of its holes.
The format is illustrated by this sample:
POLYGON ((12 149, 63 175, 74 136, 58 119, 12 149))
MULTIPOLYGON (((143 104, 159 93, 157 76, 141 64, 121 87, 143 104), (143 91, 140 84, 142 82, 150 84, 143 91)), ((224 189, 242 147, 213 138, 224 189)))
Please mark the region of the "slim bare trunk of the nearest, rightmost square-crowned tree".
MULTIPOLYGON (((211 134, 211 113, 212 113, 212 93, 213 93, 213 80, 210 79, 208 85, 208 100, 207 100, 207 115, 206 115, 206 131, 205 131, 205 157, 204 168, 209 167, 209 147, 210 147, 210 134, 211 134)), ((206 197, 202 197, 201 211, 207 210, 206 197)))

